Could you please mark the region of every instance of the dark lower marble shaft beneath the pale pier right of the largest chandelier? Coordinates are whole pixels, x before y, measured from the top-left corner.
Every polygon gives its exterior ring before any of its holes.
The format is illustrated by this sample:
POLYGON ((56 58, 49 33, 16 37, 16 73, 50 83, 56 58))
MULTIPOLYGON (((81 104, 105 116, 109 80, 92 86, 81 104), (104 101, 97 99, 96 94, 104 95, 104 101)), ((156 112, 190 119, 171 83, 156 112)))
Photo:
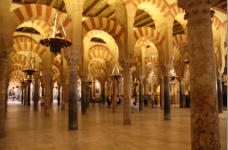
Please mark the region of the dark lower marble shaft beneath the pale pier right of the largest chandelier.
POLYGON ((78 97, 76 64, 69 66, 69 99, 68 99, 68 129, 78 129, 78 97))

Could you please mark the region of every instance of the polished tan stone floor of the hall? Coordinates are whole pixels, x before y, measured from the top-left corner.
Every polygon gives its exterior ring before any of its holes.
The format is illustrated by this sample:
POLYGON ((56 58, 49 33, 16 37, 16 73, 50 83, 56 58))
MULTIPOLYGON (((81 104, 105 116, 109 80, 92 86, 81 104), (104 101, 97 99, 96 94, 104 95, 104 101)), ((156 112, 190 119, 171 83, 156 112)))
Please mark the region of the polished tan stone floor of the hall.
MULTIPOLYGON (((54 104, 56 105, 56 104, 54 104)), ((164 121, 159 108, 132 112, 132 125, 122 125, 122 108, 90 106, 79 114, 79 130, 67 130, 67 111, 53 106, 52 116, 33 112, 20 104, 8 106, 6 138, 0 150, 190 150, 189 109, 172 108, 172 120, 164 121)), ((222 150, 226 147, 227 123, 220 114, 222 150)))

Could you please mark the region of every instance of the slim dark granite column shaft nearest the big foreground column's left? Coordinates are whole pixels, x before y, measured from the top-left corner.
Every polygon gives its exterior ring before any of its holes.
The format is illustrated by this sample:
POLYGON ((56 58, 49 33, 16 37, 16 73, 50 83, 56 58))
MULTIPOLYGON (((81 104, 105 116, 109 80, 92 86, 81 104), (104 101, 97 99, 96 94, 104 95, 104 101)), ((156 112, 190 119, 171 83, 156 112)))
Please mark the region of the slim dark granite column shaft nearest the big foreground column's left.
POLYGON ((164 76, 164 119, 170 120, 170 85, 169 76, 164 76))

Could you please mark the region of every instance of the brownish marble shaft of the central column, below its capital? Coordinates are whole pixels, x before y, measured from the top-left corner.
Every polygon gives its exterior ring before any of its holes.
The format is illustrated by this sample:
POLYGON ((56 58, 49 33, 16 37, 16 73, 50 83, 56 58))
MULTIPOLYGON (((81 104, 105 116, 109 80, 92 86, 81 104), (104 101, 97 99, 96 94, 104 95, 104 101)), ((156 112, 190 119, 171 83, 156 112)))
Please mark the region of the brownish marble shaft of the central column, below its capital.
POLYGON ((131 124, 131 70, 130 67, 125 67, 123 71, 123 124, 131 124))

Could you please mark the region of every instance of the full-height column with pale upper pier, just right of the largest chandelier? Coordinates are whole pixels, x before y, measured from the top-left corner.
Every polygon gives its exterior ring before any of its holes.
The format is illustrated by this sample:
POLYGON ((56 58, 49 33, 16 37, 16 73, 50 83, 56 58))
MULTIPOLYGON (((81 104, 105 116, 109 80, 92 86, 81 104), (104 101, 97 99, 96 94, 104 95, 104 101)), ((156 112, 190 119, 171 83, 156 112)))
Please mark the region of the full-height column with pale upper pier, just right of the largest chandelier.
POLYGON ((68 99, 68 129, 78 129, 78 97, 77 79, 80 59, 82 56, 82 11, 84 0, 71 1, 70 17, 72 20, 72 47, 68 56, 69 64, 69 99, 68 99))

